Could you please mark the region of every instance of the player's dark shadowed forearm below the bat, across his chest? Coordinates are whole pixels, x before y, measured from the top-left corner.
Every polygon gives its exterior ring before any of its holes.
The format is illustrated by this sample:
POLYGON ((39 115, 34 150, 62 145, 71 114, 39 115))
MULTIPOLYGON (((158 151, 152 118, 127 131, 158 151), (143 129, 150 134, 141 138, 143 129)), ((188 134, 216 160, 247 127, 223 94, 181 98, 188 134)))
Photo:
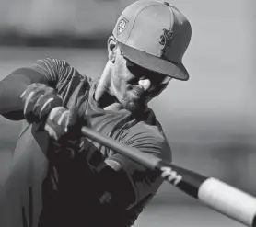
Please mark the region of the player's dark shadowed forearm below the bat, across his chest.
MULTIPOLYGON (((65 185, 72 185, 76 193, 95 199, 102 209, 116 207, 126 209, 134 204, 135 193, 129 177, 124 171, 115 171, 102 162, 99 167, 87 163, 83 157, 76 157, 73 161, 70 155, 61 151, 51 157, 51 162, 57 167, 60 178, 64 176, 65 185), (71 184, 72 182, 72 184, 71 184)), ((63 184, 64 185, 64 184, 63 184)), ((70 198, 76 195, 66 195, 70 198)), ((87 199, 85 199, 87 202, 87 199)))

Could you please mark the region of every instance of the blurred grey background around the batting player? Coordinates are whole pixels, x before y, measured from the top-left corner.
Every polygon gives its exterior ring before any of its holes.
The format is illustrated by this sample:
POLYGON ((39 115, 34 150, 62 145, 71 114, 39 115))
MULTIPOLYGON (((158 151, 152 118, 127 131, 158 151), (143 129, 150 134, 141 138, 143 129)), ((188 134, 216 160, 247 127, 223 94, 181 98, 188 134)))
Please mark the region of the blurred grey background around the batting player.
MULTIPOLYGON (((0 78, 44 57, 99 76, 116 19, 132 0, 0 0, 0 78)), ((173 160, 256 196, 253 0, 172 0, 192 23, 191 79, 171 81, 150 104, 173 160)), ((15 87, 14 87, 15 89, 15 87)), ((21 122, 0 117, 0 187, 21 122)), ((1 189, 1 188, 0 188, 1 189)), ((241 201, 242 202, 242 201, 241 201)), ((242 226, 164 184, 135 226, 242 226)))

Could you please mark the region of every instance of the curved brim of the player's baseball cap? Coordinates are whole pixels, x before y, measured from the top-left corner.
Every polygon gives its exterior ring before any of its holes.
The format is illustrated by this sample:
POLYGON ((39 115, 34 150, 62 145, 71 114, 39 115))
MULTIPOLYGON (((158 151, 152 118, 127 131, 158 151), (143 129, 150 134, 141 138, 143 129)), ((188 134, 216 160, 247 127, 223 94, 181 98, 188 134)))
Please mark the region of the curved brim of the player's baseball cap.
POLYGON ((169 62, 145 51, 139 51, 130 46, 119 42, 120 49, 125 58, 140 65, 141 67, 158 74, 164 74, 169 77, 186 81, 189 79, 189 74, 182 63, 169 62))

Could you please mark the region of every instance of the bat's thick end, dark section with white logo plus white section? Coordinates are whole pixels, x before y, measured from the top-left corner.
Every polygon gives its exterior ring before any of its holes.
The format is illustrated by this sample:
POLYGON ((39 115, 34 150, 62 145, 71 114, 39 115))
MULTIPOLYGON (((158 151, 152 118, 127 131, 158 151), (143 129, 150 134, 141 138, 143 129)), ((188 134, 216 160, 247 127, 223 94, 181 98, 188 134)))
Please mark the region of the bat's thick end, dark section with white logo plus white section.
POLYGON ((256 199, 213 177, 160 162, 161 176, 205 206, 247 226, 256 227, 256 199))

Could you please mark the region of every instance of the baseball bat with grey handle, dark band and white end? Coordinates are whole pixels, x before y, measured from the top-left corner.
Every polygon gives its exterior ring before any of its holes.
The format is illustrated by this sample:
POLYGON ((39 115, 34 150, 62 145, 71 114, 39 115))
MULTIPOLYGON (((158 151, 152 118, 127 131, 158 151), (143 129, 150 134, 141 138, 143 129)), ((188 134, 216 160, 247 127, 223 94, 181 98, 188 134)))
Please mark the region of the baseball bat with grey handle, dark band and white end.
POLYGON ((165 162, 149 153, 117 142, 97 131, 82 127, 82 134, 105 145, 116 153, 134 160, 149 169, 157 169, 162 178, 184 193, 198 199, 205 206, 246 226, 256 227, 256 198, 227 185, 214 177, 207 177, 165 162))

